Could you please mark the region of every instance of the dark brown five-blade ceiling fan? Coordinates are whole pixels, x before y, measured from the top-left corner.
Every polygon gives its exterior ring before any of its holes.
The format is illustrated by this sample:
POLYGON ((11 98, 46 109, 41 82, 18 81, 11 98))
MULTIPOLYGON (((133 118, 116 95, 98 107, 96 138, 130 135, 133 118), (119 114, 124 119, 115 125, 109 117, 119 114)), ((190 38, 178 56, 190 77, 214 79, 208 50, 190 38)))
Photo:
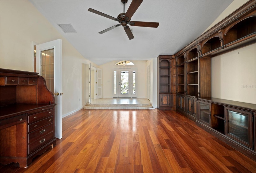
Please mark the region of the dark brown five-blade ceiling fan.
MULTIPOLYGON (((121 0, 123 4, 126 4, 128 0, 121 0)), ((97 15, 101 15, 103 17, 112 19, 117 21, 119 24, 114 25, 113 27, 107 28, 99 34, 103 34, 107 31, 110 31, 116 27, 122 26, 124 27, 124 31, 126 32, 128 38, 132 40, 134 38, 132 31, 128 25, 136 26, 136 27, 158 27, 159 23, 157 22, 139 22, 139 21, 131 21, 132 15, 135 13, 135 11, 138 9, 138 7, 141 5, 142 0, 132 0, 131 5, 129 6, 126 13, 120 13, 117 18, 112 17, 110 15, 106 15, 104 13, 101 13, 100 11, 94 10, 92 8, 89 8, 88 11, 95 13, 97 15)))

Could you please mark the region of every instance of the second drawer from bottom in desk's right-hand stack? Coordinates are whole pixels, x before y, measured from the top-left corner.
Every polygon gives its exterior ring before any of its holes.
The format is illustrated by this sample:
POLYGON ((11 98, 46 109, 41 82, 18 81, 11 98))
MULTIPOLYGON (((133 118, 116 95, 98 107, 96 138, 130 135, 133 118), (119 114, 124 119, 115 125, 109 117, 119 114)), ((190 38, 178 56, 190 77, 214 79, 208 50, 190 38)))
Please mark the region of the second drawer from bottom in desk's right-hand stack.
POLYGON ((42 138, 45 134, 51 132, 53 130, 53 123, 44 126, 32 133, 29 133, 29 143, 31 143, 32 141, 42 138))

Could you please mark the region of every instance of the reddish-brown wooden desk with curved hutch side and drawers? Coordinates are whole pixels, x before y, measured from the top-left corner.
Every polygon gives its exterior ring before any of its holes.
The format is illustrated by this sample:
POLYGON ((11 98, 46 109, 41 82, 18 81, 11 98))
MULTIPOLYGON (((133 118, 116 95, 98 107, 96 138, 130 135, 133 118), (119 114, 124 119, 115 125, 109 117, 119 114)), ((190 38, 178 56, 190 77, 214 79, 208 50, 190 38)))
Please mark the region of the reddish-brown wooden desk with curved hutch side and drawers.
POLYGON ((1 163, 27 167, 56 146, 54 95, 38 73, 1 69, 1 163))

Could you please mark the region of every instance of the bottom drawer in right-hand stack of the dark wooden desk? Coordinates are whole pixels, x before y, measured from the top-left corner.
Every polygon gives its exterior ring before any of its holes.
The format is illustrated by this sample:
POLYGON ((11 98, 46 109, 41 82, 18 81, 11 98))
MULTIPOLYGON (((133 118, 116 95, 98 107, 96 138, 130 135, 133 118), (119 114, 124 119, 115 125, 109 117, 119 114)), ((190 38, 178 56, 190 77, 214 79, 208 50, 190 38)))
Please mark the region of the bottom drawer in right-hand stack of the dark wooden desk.
POLYGON ((53 132, 48 133, 47 135, 37 139, 36 141, 30 143, 28 145, 28 154, 32 153, 36 149, 42 147, 44 144, 47 144, 47 142, 51 141, 53 139, 53 132))

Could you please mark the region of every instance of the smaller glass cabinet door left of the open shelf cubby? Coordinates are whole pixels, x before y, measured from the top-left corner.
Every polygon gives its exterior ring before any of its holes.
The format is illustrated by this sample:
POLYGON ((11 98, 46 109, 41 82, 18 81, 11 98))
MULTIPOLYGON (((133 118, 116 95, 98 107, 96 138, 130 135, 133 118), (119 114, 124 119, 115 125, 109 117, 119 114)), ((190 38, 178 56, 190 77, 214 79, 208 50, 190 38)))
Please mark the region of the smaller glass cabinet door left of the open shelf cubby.
POLYGON ((211 123, 211 103, 199 102, 199 121, 209 125, 211 123))

